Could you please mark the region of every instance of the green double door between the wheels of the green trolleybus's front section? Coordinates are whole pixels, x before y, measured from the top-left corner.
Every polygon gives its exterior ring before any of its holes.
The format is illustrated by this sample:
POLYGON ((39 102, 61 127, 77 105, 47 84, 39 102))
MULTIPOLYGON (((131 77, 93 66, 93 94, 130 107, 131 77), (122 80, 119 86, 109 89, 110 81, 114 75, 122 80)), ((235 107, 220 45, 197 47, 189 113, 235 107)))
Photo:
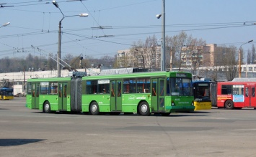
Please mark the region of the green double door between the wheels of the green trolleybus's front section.
POLYGON ((122 111, 121 87, 121 80, 114 80, 110 82, 110 111, 122 111))

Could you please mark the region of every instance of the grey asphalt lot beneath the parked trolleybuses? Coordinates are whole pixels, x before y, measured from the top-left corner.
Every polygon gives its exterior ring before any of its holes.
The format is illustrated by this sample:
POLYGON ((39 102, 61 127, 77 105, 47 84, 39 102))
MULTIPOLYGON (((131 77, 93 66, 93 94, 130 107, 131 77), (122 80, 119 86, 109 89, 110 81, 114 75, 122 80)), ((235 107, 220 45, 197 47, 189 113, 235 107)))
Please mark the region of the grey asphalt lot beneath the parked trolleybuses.
POLYGON ((256 110, 84 115, 0 101, 0 156, 256 156, 256 110))

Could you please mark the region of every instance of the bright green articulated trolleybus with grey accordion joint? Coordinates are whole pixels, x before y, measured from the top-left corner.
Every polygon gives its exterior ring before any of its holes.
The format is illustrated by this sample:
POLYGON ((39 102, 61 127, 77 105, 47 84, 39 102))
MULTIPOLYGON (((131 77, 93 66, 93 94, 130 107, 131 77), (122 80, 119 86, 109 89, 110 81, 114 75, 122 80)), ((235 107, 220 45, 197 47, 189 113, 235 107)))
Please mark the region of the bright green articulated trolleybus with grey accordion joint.
MULTIPOLYGON (((85 73, 85 72, 84 72, 85 73)), ((92 115, 193 112, 192 75, 187 72, 136 72, 27 80, 27 108, 92 115)))

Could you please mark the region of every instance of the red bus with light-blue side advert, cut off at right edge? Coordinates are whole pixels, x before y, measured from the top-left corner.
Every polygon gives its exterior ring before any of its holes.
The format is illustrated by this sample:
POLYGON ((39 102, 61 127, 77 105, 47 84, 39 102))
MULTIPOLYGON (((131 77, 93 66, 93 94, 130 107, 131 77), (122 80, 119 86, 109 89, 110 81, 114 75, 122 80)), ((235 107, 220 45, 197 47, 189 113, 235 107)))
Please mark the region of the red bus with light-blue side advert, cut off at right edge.
POLYGON ((256 82, 218 82, 217 107, 256 109, 255 88, 256 82))

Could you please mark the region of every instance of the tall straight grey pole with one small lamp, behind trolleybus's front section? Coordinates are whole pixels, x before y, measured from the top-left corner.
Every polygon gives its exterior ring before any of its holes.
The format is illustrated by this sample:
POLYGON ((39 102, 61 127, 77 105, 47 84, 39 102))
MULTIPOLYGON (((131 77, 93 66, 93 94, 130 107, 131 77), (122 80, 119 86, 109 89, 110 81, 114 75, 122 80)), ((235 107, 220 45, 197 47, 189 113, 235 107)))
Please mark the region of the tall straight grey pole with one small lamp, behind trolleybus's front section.
POLYGON ((165 0, 163 1, 163 12, 162 14, 157 14, 156 18, 160 19, 162 16, 162 47, 161 47, 161 71, 165 71, 165 0))

